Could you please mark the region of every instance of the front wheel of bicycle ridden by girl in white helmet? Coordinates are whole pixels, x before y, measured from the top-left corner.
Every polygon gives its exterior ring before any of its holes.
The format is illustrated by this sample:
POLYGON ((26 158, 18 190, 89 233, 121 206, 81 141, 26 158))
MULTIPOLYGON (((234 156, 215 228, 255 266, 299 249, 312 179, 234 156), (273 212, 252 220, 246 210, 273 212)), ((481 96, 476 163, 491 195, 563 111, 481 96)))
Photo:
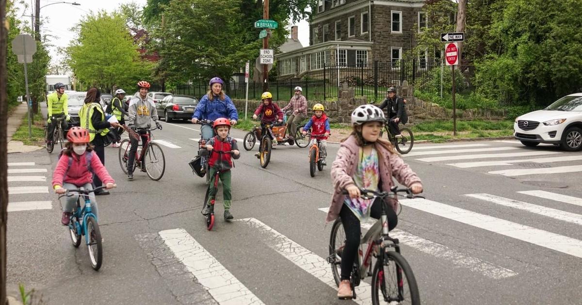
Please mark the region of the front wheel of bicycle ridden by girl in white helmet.
POLYGON ((386 251, 384 259, 376 261, 371 285, 372 304, 384 301, 420 305, 420 293, 412 268, 398 252, 386 251))

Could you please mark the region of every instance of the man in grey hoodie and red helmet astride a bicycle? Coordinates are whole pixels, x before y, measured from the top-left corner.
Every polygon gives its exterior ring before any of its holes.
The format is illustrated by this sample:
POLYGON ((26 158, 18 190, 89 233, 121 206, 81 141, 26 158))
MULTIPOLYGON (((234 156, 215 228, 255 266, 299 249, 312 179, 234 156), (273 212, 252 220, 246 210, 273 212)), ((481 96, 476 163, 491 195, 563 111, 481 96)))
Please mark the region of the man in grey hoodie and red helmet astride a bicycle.
MULTIPOLYGON (((136 130, 137 128, 147 128, 151 126, 151 121, 154 121, 155 125, 161 130, 162 125, 158 122, 158 112, 155 110, 154 100, 147 96, 147 91, 150 88, 150 83, 147 81, 137 82, 137 88, 139 92, 132 97, 129 102, 129 113, 127 116, 127 121, 129 122, 129 128, 136 130)), ((137 130, 141 136, 141 148, 145 145, 147 137, 145 130, 137 130)), ((127 179, 133 179, 133 162, 136 159, 137 145, 139 140, 129 137, 132 147, 129 149, 129 156, 127 159, 127 179)), ((141 163, 141 171, 145 171, 145 164, 141 163)))

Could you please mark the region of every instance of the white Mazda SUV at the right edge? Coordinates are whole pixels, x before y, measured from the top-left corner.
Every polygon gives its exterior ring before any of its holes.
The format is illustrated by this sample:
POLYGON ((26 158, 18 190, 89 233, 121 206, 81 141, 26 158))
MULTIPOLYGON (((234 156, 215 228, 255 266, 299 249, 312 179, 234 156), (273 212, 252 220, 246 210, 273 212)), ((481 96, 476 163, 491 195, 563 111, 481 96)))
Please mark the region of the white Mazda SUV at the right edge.
POLYGON ((513 136, 526 146, 552 143, 574 152, 582 148, 582 93, 566 95, 545 109, 515 119, 513 136))

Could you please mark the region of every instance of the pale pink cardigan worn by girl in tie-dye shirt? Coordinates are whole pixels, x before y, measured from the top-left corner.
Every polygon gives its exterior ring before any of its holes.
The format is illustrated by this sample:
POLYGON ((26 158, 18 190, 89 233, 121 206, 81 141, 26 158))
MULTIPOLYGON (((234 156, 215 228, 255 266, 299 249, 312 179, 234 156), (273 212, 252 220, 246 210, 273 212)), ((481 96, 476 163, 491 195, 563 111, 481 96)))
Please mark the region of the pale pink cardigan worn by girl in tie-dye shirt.
MULTIPOLYGON (((380 181, 379 188, 382 191, 388 191, 393 185, 392 176, 402 185, 410 186, 415 182, 421 183, 420 178, 410 169, 408 164, 395 153, 391 153, 378 143, 374 148, 379 150, 382 159, 379 161, 380 181)), ((350 184, 355 184, 353 175, 356 173, 356 167, 359 162, 360 146, 356 138, 352 135, 343 142, 338 150, 338 155, 331 166, 331 178, 333 180, 333 196, 329 206, 329 211, 325 221, 333 221, 338 218, 339 211, 342 209, 343 200, 346 195, 342 190, 350 184)), ((396 209, 396 200, 391 199, 392 207, 396 209)))

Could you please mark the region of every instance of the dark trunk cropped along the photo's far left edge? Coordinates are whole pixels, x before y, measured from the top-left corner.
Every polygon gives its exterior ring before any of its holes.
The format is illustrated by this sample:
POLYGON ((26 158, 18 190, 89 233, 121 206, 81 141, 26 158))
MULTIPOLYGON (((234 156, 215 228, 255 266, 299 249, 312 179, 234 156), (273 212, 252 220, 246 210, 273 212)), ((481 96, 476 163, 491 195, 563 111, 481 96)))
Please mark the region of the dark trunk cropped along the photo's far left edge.
MULTIPOLYGON (((0 0, 0 20, 6 20, 6 0, 0 0)), ((6 296, 6 221, 8 220, 6 51, 8 41, 6 40, 8 40, 8 20, 0 24, 0 304, 8 304, 6 296)))

